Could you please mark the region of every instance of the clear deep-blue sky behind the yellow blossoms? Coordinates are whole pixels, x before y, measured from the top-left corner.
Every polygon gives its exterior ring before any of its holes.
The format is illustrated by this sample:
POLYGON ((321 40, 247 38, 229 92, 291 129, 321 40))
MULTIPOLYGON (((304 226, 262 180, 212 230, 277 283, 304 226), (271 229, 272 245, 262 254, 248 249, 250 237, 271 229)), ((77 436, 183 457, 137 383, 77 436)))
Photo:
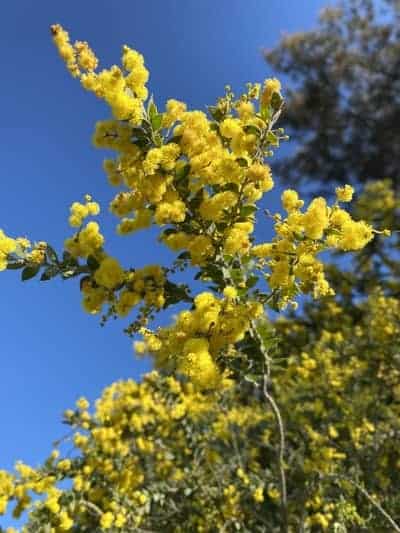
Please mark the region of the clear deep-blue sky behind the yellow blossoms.
MULTIPOLYGON (((185 100, 204 109, 226 83, 239 90, 272 73, 261 50, 282 32, 310 29, 321 0, 4 0, 0 21, 0 227, 47 240, 58 249, 69 231, 68 206, 90 192, 107 205, 113 191, 91 146, 106 107, 84 92, 54 49, 49 26, 88 40, 104 66, 121 45, 145 56, 150 89, 160 103, 185 100)), ((275 208, 275 196, 271 196, 275 208)), ((105 221, 111 221, 108 215, 105 221)), ((107 232, 111 253, 125 265, 168 258, 148 233, 126 240, 107 232)), ((62 411, 79 395, 96 398, 119 378, 150 367, 132 356, 122 323, 100 328, 81 311, 75 282, 22 284, 0 275, 0 468, 16 459, 37 464, 65 432, 62 411)), ((0 520, 1 524, 1 520, 0 520)))

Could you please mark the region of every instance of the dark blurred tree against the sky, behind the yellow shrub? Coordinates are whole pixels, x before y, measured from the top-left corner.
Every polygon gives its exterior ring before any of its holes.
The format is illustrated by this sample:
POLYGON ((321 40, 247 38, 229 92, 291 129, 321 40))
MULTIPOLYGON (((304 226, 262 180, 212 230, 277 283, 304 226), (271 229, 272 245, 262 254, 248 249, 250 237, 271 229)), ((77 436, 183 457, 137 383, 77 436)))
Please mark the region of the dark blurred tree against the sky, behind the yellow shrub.
POLYGON ((319 26, 265 52, 292 81, 282 124, 297 141, 274 163, 291 185, 390 178, 400 187, 400 2, 345 0, 319 26))

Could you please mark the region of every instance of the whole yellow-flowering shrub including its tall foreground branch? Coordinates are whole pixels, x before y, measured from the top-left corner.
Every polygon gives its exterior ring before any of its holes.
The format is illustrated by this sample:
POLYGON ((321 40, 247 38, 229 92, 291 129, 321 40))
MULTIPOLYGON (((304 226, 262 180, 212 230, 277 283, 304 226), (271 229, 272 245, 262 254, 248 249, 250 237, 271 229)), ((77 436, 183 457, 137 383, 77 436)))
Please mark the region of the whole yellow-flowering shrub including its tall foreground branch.
POLYGON ((27 511, 25 533, 372 531, 382 516, 397 527, 382 502, 399 515, 398 301, 377 284, 352 299, 350 274, 322 259, 385 246, 398 206, 390 184, 364 193, 385 226, 363 196, 354 213, 343 207, 350 185, 331 202, 287 189, 284 213, 272 214, 268 158, 286 140, 278 80, 239 97, 227 86, 207 113, 174 99, 160 111, 141 54, 124 46, 121 66, 99 70, 88 43, 72 44, 59 25, 52 34, 72 76, 110 107, 93 142, 115 153, 103 168, 117 188, 117 234, 157 226, 177 256, 121 264, 89 195, 70 207, 60 254, 0 231, 0 270, 79 277, 84 310, 129 317, 136 353, 156 366, 141 383, 110 385, 94 408, 81 397, 65 412, 73 454, 60 446, 42 466, 0 471, 0 514, 9 503, 16 518, 27 511), (274 236, 256 243, 260 214, 274 236), (177 281, 186 268, 207 290, 177 281), (318 301, 268 317, 308 294, 318 301), (170 325, 151 327, 177 304, 170 325))

